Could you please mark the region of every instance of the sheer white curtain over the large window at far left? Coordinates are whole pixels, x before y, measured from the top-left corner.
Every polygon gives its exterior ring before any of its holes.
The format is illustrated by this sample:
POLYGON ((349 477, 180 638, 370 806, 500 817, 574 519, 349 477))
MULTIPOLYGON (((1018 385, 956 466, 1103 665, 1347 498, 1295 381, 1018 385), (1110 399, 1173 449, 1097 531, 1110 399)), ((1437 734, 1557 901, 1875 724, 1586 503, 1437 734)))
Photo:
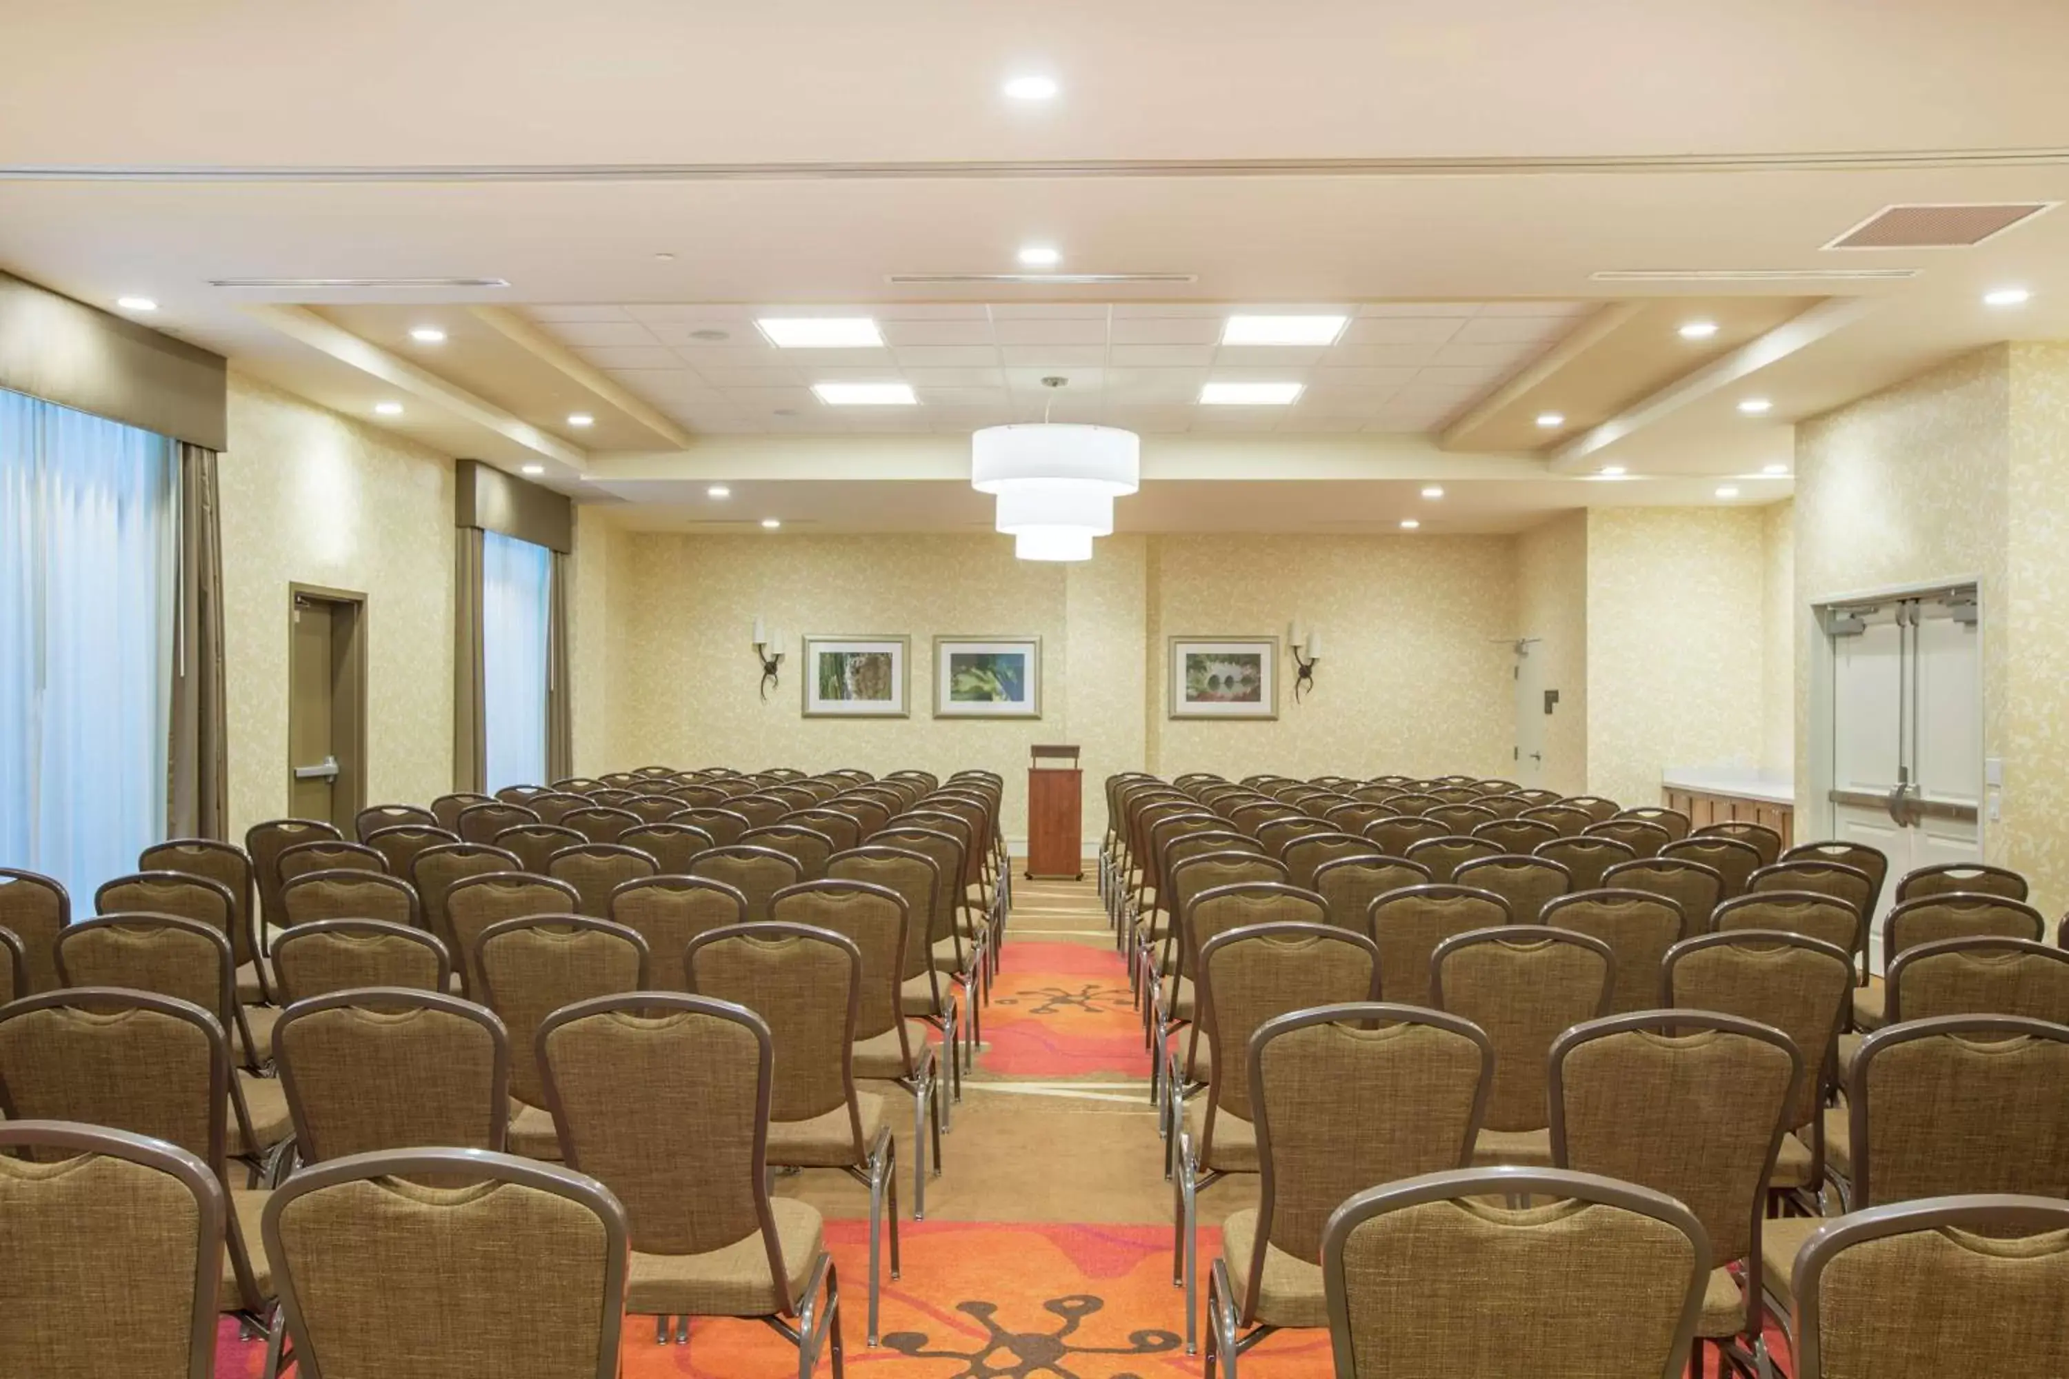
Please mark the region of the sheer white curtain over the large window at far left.
POLYGON ((166 837, 172 442, 0 391, 0 866, 93 891, 166 837))

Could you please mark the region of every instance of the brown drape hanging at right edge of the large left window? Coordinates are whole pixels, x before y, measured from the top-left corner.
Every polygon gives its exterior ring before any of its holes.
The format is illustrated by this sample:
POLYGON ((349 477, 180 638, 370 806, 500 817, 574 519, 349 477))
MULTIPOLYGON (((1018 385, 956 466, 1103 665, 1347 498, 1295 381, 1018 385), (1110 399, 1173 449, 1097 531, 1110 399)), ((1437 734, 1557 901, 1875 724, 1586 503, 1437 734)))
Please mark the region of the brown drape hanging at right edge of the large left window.
POLYGON ((223 525, 217 455, 174 442, 180 465, 180 573, 172 655, 172 750, 166 827, 223 837, 230 813, 230 724, 223 695, 223 525))

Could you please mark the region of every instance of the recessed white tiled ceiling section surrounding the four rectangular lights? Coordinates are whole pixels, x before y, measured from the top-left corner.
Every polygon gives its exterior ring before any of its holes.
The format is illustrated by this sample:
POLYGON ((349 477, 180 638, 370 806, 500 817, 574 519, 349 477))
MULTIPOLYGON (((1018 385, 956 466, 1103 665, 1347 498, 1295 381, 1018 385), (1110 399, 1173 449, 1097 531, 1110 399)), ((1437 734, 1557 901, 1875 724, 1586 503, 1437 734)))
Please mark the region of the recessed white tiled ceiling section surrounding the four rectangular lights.
POLYGON ((1581 302, 972 302, 534 306, 590 364, 706 434, 1430 430, 1564 335, 1581 302), (871 316, 881 349, 778 349, 755 316, 871 316), (1223 345, 1235 312, 1351 316, 1335 345, 1223 345), (699 339, 722 333, 722 341, 699 339), (1043 378, 1066 378, 1063 389, 1043 378), (1198 405, 1210 380, 1301 382, 1291 407, 1198 405), (830 407, 815 382, 910 382, 919 407, 830 407))

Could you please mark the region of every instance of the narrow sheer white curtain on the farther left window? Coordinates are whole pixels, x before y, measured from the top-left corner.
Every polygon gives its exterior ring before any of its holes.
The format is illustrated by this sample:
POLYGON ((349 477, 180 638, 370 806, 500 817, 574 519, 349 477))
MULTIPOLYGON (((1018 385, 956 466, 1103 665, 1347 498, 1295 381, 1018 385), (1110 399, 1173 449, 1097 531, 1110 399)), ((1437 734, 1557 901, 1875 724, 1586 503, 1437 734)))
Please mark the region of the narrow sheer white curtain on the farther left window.
POLYGON ((488 790, 546 784, 552 552, 482 533, 482 719, 488 790))

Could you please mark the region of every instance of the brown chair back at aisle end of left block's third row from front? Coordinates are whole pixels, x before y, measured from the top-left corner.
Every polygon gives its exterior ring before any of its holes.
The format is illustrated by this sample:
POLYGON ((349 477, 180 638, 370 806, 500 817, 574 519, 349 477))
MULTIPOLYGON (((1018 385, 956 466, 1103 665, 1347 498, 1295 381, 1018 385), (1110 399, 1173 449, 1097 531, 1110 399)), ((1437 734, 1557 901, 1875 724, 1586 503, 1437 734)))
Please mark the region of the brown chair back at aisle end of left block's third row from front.
POLYGON ((753 1011, 776 1056, 772 1121, 848 1110, 854 1158, 867 1156, 854 1100, 854 1025, 863 955, 846 934, 763 920, 714 928, 683 959, 691 990, 753 1011))

